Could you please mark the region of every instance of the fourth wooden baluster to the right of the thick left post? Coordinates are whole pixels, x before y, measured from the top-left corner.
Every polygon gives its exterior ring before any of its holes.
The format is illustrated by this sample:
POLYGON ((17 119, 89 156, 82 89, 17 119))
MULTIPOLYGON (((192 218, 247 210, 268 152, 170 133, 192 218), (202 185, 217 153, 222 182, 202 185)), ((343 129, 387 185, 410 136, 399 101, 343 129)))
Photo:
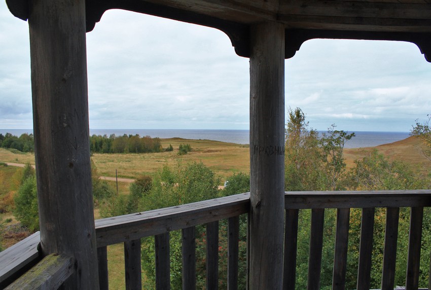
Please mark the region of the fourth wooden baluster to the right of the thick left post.
POLYGON ((183 289, 196 289, 195 227, 183 229, 183 289))

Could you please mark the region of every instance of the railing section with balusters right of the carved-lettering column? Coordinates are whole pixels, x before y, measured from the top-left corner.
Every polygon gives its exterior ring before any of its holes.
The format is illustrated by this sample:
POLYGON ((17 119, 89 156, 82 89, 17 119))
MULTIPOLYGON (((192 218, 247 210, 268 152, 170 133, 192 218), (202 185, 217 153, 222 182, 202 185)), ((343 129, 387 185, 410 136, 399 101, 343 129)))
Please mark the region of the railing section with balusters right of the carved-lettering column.
POLYGON ((333 289, 346 283, 347 245, 350 208, 362 208, 361 240, 357 271, 357 289, 370 289, 373 249, 374 211, 386 207, 386 231, 383 254, 382 289, 394 288, 400 207, 410 207, 410 230, 406 289, 418 289, 423 207, 431 206, 431 191, 374 192, 288 192, 284 240, 284 289, 295 289, 299 209, 311 209, 308 289, 319 289, 324 233, 324 210, 337 209, 333 289))

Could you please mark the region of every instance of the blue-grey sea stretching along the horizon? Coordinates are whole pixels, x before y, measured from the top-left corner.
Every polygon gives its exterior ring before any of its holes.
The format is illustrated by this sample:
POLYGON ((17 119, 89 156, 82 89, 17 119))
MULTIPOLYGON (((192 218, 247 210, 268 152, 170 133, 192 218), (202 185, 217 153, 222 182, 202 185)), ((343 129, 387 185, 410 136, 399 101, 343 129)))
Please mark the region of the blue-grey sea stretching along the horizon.
MULTIPOLYGON (((321 131, 323 132, 323 131, 321 131)), ((320 132, 320 133, 321 133, 320 132)), ((33 133, 31 129, 0 129, 0 133, 5 135, 11 133, 12 135, 20 136, 23 133, 33 133)), ((350 132, 349 132, 350 133, 350 132)), ((381 144, 392 143, 395 141, 403 140, 409 137, 409 132, 354 132, 355 137, 348 140, 344 148, 363 148, 374 147, 381 144)), ((249 144, 249 131, 248 130, 205 130, 205 129, 90 129, 90 135, 104 135, 107 136, 115 134, 122 136, 123 134, 140 136, 151 136, 159 138, 185 138, 185 139, 208 139, 223 142, 231 142, 238 144, 249 144)))

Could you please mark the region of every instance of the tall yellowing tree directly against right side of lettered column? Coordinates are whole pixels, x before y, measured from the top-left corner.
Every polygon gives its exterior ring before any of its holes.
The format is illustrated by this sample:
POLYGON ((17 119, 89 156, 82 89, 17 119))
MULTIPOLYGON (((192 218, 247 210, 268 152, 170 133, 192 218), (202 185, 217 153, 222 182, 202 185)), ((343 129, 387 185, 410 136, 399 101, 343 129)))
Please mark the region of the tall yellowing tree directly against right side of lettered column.
POLYGON ((285 142, 285 190, 319 190, 322 173, 318 132, 308 127, 300 108, 289 110, 285 142))

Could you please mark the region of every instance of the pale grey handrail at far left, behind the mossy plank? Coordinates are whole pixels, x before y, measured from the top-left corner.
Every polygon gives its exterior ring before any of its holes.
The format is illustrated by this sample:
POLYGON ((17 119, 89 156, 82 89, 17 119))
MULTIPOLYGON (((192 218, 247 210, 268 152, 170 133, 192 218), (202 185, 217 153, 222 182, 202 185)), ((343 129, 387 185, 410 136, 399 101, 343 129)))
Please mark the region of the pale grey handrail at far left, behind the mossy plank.
POLYGON ((0 288, 6 287, 40 261, 38 251, 40 241, 40 232, 35 232, 0 252, 0 288))

